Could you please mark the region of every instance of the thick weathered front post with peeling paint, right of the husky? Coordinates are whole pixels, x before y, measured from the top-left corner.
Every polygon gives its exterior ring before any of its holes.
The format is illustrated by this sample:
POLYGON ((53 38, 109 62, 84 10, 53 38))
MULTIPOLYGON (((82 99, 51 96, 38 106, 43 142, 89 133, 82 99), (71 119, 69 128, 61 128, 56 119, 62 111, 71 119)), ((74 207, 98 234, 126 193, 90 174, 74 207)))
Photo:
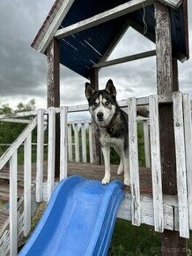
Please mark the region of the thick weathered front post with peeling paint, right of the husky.
MULTIPOLYGON (((168 7, 154 3, 156 19, 156 52, 158 94, 172 94, 178 90, 177 62, 172 58, 171 21, 168 7)), ((159 132, 163 193, 177 193, 174 147, 173 104, 159 106, 159 132)), ((165 230, 161 240, 161 255, 187 255, 186 239, 179 232, 165 230)))

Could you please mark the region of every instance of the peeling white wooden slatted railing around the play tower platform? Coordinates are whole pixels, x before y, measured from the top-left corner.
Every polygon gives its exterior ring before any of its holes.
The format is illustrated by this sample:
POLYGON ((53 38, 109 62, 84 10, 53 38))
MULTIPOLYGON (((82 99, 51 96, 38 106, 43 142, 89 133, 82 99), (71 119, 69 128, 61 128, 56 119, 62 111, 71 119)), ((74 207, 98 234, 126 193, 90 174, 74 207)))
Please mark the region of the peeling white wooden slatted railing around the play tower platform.
MULTIPOLYGON (((130 98, 120 102, 120 106, 128 109, 129 114, 129 167, 130 167, 130 194, 122 203, 120 216, 129 219, 134 225, 147 223, 155 230, 162 232, 165 228, 179 230, 181 237, 189 237, 189 228, 192 229, 192 145, 191 145, 191 117, 190 102, 187 94, 174 93, 172 96, 151 95, 144 98, 130 98), (169 199, 163 196, 161 181, 161 163, 159 148, 159 102, 174 102, 174 137, 177 167, 177 198, 169 199), (151 150, 151 196, 140 194, 140 176, 138 167, 137 149, 137 106, 149 105, 150 111, 150 145, 151 150), (167 207, 168 206, 168 207, 167 207), (178 209, 176 215, 176 208, 178 209), (167 209, 168 208, 168 209, 167 209), (121 213, 122 211, 122 213, 121 213), (124 211, 124 215, 123 215, 124 211), (151 217, 150 217, 151 216, 151 217)), ((37 159, 36 159, 36 200, 43 200, 43 157, 44 157, 44 121, 48 116, 48 179, 46 194, 49 200, 55 187, 55 114, 60 114, 60 179, 67 177, 67 159, 72 160, 71 127, 74 126, 75 160, 79 160, 78 125, 81 125, 82 159, 86 159, 85 128, 89 127, 89 140, 92 141, 91 124, 67 122, 67 114, 75 111, 85 111, 87 105, 62 107, 60 109, 39 109, 37 112, 19 114, 20 117, 31 116, 30 124, 18 139, 7 149, 0 158, 0 169, 10 162, 10 255, 17 255, 18 240, 18 147, 24 143, 24 221, 23 231, 27 235, 31 227, 31 186, 32 186, 32 132, 37 126, 37 159), (69 144, 67 143, 69 141, 69 144), (67 153, 69 152, 69 154, 67 153)), ((144 124, 148 133, 148 125, 144 124)), ((92 143, 92 142, 90 142, 92 143)), ((92 145, 90 161, 92 162, 92 145)), ((81 149, 80 149, 81 150, 81 149)))

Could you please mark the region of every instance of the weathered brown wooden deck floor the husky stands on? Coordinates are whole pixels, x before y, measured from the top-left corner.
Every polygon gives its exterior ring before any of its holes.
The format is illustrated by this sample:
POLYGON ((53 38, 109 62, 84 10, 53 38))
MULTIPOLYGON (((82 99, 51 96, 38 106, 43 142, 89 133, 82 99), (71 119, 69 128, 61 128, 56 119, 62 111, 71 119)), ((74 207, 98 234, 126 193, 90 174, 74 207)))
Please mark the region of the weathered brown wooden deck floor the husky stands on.
MULTIPOLYGON (((117 165, 111 165, 111 180, 118 179, 123 182, 123 175, 118 176, 117 165)), ((44 179, 47 179, 47 163, 44 163, 44 179)), ((35 182, 35 172, 36 165, 32 165, 32 178, 33 182, 35 182)), ((68 163, 68 176, 71 175, 80 175, 85 178, 101 180, 104 176, 104 166, 103 165, 95 165, 91 163, 81 163, 81 162, 69 162, 68 163)), ((23 167, 20 166, 18 168, 18 198, 23 193, 23 167)), ((141 192, 143 193, 151 193, 151 169, 148 168, 140 168, 140 187, 141 192)), ((129 191, 129 187, 124 188, 125 191, 129 191)), ((9 200, 9 169, 5 168, 0 170, 0 200, 4 200, 4 202, 9 200)), ((9 216, 8 209, 5 207, 0 207, 0 230, 9 216)))

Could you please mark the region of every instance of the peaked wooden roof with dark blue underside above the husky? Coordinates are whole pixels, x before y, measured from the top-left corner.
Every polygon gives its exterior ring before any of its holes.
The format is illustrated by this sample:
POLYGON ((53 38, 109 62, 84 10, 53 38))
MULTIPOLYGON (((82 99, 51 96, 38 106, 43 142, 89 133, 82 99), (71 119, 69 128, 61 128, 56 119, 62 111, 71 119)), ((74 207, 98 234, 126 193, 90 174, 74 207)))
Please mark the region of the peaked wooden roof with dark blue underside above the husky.
MULTIPOLYGON (((169 6, 173 56, 188 59, 187 0, 159 0, 169 6)), ((155 42, 154 0, 56 0, 32 47, 46 53, 60 41, 60 63, 89 78, 94 64, 107 59, 129 26, 155 42)), ((129 41, 128 41, 129 44, 129 41)))

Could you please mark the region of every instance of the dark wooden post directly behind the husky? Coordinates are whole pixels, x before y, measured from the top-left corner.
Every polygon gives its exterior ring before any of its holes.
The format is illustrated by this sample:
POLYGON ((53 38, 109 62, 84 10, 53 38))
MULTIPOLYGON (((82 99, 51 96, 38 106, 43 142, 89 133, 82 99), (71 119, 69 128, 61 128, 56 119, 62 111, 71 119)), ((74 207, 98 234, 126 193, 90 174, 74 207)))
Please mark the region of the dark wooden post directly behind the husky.
MULTIPOLYGON (((92 87, 94 87, 96 90, 99 90, 99 71, 97 68, 92 68, 90 72, 90 83, 92 87)), ((93 163, 101 164, 100 139, 96 125, 94 123, 92 123, 92 152, 93 163)))

